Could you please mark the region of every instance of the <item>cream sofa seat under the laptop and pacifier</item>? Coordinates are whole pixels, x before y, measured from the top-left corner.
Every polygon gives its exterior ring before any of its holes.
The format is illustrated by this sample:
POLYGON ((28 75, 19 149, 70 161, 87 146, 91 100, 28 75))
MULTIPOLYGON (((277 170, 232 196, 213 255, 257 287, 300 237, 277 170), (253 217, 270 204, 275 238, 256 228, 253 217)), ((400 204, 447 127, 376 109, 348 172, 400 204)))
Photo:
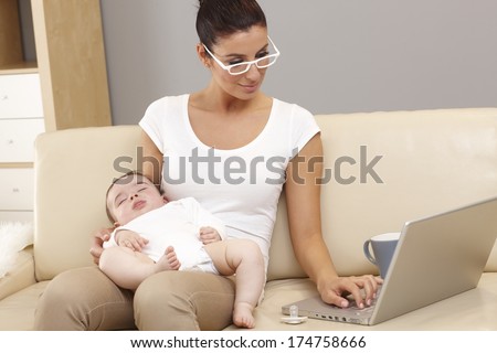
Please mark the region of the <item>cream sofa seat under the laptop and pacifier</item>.
MULTIPOLYGON (((362 330, 497 330, 497 272, 485 272, 474 290, 412 311, 373 327, 308 319, 302 324, 281 322, 284 304, 316 296, 309 279, 283 279, 267 284, 262 304, 256 309, 255 330, 362 331, 362 330)), ((226 330, 237 330, 230 327, 226 330)))

